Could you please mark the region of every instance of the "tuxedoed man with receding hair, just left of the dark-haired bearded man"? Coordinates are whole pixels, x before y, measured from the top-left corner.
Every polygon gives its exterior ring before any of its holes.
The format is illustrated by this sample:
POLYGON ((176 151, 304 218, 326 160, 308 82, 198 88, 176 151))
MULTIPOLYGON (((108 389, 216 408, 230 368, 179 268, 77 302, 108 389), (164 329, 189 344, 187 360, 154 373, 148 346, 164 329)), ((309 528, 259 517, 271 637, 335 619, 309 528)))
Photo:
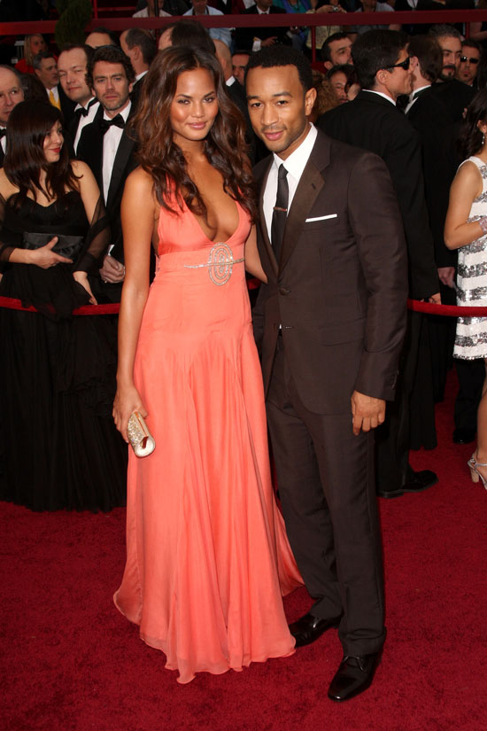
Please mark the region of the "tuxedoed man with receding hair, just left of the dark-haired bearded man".
POLYGON ((86 82, 86 72, 93 49, 87 45, 68 45, 59 54, 58 73, 61 88, 74 107, 73 120, 69 123, 69 144, 75 154, 81 132, 95 119, 100 108, 97 97, 86 82))

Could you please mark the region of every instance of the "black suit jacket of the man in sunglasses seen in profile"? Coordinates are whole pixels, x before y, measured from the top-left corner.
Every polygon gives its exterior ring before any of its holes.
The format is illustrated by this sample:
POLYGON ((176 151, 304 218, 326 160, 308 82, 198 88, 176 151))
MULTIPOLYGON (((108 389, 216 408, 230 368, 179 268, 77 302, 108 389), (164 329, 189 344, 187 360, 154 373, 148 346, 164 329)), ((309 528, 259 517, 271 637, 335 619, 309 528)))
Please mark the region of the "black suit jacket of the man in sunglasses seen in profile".
POLYGON ((412 125, 387 99, 369 91, 360 91, 352 102, 323 114, 318 125, 329 136, 384 160, 406 233, 411 296, 423 299, 439 292, 424 198, 421 140, 412 125))

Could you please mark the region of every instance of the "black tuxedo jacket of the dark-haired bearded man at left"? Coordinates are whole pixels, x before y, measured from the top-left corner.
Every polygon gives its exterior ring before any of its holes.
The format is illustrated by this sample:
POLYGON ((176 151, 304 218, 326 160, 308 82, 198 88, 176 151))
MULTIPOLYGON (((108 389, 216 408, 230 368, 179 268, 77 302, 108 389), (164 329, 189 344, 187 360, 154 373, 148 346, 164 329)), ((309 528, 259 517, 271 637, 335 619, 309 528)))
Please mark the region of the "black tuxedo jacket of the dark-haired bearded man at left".
MULTIPOLYGON (((106 211, 110 218, 112 229, 113 249, 111 255, 123 264, 123 237, 120 222, 120 203, 128 175, 135 170, 138 163, 135 159, 136 143, 134 133, 131 132, 130 121, 134 115, 134 105, 130 109, 127 125, 120 138, 119 149, 113 162, 110 188, 106 200, 106 211)), ((99 121, 103 118, 103 107, 100 105, 97 117, 88 124, 81 132, 78 143, 77 157, 89 165, 93 175, 97 179, 100 191, 103 191, 103 143, 104 136, 101 132, 99 121)))

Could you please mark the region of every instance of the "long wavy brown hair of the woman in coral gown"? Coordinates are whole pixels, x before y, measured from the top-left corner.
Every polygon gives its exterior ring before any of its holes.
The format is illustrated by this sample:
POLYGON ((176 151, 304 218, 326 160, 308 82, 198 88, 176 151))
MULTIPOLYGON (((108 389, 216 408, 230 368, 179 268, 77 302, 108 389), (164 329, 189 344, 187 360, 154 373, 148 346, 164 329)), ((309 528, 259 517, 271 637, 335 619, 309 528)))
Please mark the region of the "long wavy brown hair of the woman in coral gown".
MULTIPOLYGON (((256 204, 251 168, 246 156, 243 117, 223 86, 220 64, 202 49, 173 47, 160 51, 143 82, 143 91, 135 116, 135 132, 140 144, 139 161, 154 183, 158 202, 175 213, 171 200, 182 201, 194 214, 206 218, 206 206, 197 186, 188 174, 181 147, 174 143, 171 105, 180 74, 197 68, 213 76, 219 112, 205 138, 205 155, 223 177, 223 187, 231 198, 248 211, 252 220, 256 204)), ((174 205, 174 204, 173 204, 174 205)))

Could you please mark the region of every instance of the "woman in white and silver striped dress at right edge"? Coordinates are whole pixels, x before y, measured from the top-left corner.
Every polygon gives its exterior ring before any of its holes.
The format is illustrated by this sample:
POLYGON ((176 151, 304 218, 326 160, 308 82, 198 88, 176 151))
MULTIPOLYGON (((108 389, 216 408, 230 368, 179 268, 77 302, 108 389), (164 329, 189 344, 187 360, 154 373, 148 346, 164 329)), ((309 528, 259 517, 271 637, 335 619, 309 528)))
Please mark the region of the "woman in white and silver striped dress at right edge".
MULTIPOLYGON (((458 249, 457 304, 487 307, 487 91, 468 106, 460 137, 461 163, 450 190, 444 243, 458 249)), ((455 358, 483 358, 487 366, 487 317, 459 317, 455 358)), ((487 381, 477 410, 477 447, 468 460, 473 482, 487 489, 487 381)))

